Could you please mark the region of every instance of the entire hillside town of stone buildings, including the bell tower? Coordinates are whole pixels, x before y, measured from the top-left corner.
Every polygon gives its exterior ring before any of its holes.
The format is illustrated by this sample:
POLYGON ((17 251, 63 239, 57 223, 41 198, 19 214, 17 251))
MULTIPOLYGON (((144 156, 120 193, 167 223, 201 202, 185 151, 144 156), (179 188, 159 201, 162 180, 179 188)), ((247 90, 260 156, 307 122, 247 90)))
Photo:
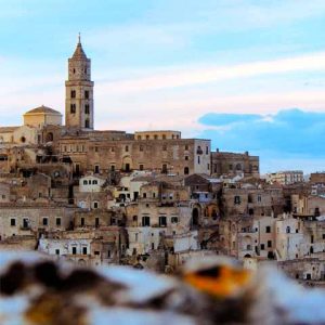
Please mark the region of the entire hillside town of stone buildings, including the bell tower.
POLYGON ((93 88, 79 39, 65 123, 42 105, 0 127, 1 250, 169 274, 222 255, 324 286, 325 171, 264 177, 258 156, 212 151, 208 139, 95 130, 93 88))

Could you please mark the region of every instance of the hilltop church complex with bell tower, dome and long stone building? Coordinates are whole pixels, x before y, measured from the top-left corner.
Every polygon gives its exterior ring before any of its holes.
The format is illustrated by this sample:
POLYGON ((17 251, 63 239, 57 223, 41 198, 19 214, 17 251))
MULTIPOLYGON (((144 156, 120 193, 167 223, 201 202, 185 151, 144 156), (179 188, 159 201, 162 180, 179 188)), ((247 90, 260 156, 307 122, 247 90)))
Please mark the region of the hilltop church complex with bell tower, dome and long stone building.
MULTIPOLYGON (((60 112, 41 105, 24 114, 23 126, 1 127, 0 168, 5 165, 1 162, 6 160, 6 154, 20 153, 13 158, 14 168, 22 168, 26 161, 55 161, 70 164, 76 177, 87 172, 105 176, 117 170, 181 176, 211 173, 210 140, 182 139, 180 131, 172 130, 127 133, 94 129, 91 60, 80 37, 68 58, 67 75, 65 125, 60 112)), ((8 160, 5 166, 13 168, 8 160)))

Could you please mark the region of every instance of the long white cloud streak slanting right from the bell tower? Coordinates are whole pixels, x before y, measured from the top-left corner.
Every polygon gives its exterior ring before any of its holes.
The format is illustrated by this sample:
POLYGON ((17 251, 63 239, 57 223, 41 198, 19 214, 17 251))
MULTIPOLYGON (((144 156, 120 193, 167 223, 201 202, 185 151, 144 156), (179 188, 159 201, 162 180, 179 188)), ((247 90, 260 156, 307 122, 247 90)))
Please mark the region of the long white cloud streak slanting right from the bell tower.
POLYGON ((325 69, 325 52, 274 61, 244 63, 234 66, 210 66, 197 69, 177 69, 136 79, 103 82, 98 86, 99 93, 145 92, 162 88, 187 87, 214 81, 249 78, 261 75, 275 75, 292 72, 325 69))

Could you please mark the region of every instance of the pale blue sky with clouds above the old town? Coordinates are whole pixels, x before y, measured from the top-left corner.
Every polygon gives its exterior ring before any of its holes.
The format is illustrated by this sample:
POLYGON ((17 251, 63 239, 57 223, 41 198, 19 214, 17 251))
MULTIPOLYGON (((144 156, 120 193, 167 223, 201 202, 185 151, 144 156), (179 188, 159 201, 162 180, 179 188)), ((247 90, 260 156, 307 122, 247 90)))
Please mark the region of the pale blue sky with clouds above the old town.
POLYGON ((262 173, 325 170, 324 0, 0 4, 0 126, 64 114, 80 31, 96 129, 180 130, 259 155, 262 173))

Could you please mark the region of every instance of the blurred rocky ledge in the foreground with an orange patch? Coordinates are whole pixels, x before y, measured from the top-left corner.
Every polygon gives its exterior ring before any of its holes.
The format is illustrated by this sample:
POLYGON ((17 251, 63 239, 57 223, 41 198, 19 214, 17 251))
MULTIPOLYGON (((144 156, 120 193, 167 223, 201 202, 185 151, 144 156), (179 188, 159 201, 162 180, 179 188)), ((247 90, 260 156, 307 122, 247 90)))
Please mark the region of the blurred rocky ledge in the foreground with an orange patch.
POLYGON ((224 258, 178 276, 0 252, 0 324, 324 324, 325 291, 224 258))

